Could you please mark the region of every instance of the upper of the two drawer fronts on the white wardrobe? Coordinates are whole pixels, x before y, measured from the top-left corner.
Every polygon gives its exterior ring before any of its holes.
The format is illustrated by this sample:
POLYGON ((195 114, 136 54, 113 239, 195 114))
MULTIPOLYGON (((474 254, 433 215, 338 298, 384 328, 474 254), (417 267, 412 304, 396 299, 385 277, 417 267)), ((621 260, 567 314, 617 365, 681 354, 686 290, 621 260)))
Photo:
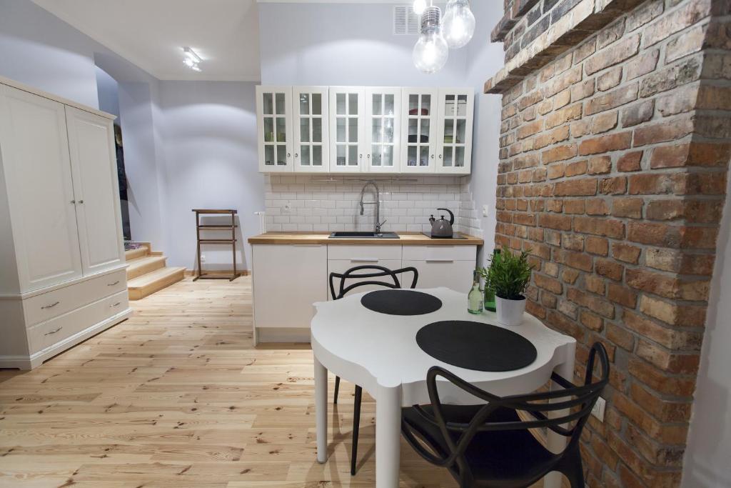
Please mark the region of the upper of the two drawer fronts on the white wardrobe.
POLYGON ((26 327, 58 317, 126 288, 126 271, 121 269, 23 300, 26 327))

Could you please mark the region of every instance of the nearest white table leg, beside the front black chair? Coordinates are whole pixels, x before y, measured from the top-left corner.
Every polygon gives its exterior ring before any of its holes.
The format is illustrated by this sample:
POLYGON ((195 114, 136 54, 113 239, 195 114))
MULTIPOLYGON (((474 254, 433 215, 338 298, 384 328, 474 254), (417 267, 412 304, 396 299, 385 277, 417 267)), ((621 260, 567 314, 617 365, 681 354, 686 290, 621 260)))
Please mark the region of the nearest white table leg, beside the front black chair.
POLYGON ((401 385, 376 392, 376 488, 398 487, 401 464, 401 385))

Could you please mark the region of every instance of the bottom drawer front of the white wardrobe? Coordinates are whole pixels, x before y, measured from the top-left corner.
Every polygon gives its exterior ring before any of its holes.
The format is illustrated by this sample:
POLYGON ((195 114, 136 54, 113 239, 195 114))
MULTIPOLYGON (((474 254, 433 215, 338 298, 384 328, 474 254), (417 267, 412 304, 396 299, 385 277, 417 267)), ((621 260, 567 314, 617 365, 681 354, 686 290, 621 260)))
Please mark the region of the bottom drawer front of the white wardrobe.
POLYGON ((47 322, 39 323, 37 326, 28 329, 31 354, 48 348, 56 342, 61 342, 102 320, 123 312, 127 308, 127 292, 124 290, 113 296, 95 301, 93 304, 88 304, 86 307, 81 307, 47 322))

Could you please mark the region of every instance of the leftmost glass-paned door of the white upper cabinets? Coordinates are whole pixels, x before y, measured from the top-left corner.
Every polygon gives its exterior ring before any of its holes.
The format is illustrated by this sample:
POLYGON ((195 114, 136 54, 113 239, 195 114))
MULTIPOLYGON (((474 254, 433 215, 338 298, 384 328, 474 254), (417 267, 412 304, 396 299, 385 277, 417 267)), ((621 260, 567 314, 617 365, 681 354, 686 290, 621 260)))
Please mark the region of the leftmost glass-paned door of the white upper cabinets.
POLYGON ((292 87, 257 86, 257 140, 262 173, 294 171, 292 87))

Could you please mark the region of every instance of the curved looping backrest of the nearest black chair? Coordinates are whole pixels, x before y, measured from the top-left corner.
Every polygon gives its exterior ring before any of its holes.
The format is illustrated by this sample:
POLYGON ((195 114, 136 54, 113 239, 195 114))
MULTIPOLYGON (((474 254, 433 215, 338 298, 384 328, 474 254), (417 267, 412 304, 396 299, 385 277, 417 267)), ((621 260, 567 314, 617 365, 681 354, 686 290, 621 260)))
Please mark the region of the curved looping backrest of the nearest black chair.
POLYGON ((413 441, 415 439, 413 437, 409 438, 413 434, 405 432, 406 440, 409 440, 412 447, 415 447, 423 457, 429 459, 434 464, 445 467, 458 465, 462 473, 465 470, 469 470, 466 459, 464 459, 464 453, 472 438, 477 435, 477 432, 548 427, 553 432, 569 438, 567 448, 564 450, 566 452, 570 447, 579 442, 581 431, 584 424, 586 424, 588 416, 591 414, 591 409, 594 408, 596 399, 609 382, 609 359, 607 350, 600 342, 596 342, 591 347, 586 364, 586 378, 583 386, 575 386, 569 380, 561 378, 556 373, 551 375, 551 380, 564 389, 511 397, 497 397, 487 391, 472 386, 446 369, 436 366, 431 367, 427 375, 427 387, 433 415, 418 406, 415 408, 427 421, 439 426, 444 443, 449 446, 450 452, 446 453, 446 457, 439 457, 437 454, 425 451, 423 447, 419 448, 414 446, 413 441), (597 377, 599 379, 594 381, 596 356, 599 356, 602 372, 597 377), (447 423, 447 420, 445 420, 444 409, 442 408, 442 402, 439 399, 439 391, 437 391, 436 386, 436 379, 440 376, 458 388, 474 395, 474 397, 488 402, 477 411, 475 416, 469 421, 469 424, 447 423), (525 421, 487 421, 491 413, 501 407, 523 411, 524 413, 528 413, 532 419, 525 421))

